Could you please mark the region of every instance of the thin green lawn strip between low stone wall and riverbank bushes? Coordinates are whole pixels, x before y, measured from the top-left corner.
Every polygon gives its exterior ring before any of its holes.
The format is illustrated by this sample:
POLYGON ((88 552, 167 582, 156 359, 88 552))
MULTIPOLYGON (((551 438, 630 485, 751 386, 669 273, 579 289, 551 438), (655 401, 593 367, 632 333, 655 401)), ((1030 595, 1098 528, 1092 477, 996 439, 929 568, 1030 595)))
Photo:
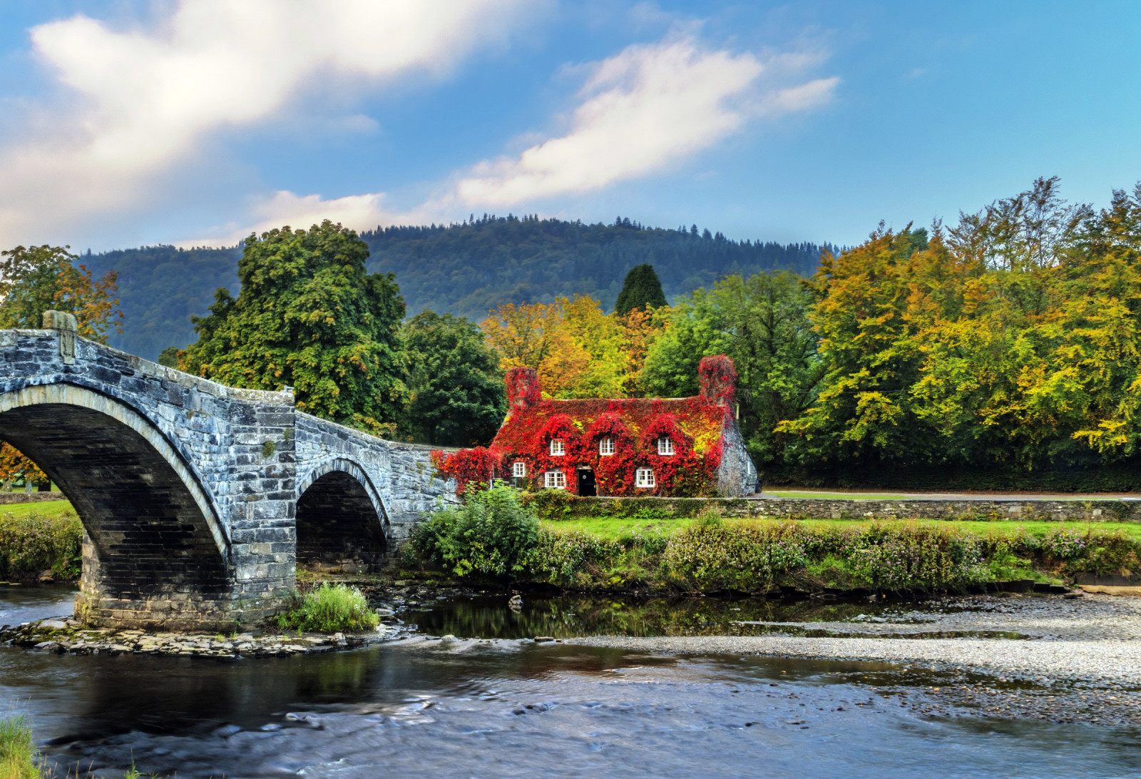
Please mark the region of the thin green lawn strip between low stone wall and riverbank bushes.
MULTIPOLYGON (((727 520, 728 523, 734 522, 771 522, 774 520, 727 520)), ((798 522, 806 524, 808 527, 824 527, 824 525, 841 525, 844 528, 863 528, 872 524, 871 520, 796 520, 798 522)), ((629 519, 615 519, 609 516, 604 517, 589 517, 582 520, 559 520, 555 522, 544 522, 547 527, 553 530, 569 531, 569 530, 583 530, 594 536, 600 536, 602 538, 618 538, 620 536, 631 533, 633 531, 640 531, 642 533, 674 533, 679 530, 689 527, 694 520, 691 519, 670 519, 662 520, 659 522, 637 522, 629 519)), ((882 520, 881 520, 882 522, 882 520)), ((1141 538, 1141 523, 1138 522, 1008 522, 1008 521, 995 521, 995 522, 966 522, 966 521, 952 521, 952 520, 912 520, 916 524, 929 524, 947 527, 954 525, 956 528, 962 528, 963 530, 970 530, 971 532, 978 533, 980 536, 986 536, 989 533, 1013 533, 1018 532, 1019 529, 1029 530, 1031 532, 1045 532, 1047 530, 1058 530, 1060 528, 1066 528, 1070 530, 1085 531, 1087 529, 1100 530, 1100 531, 1115 531, 1124 530, 1133 538, 1141 538)))

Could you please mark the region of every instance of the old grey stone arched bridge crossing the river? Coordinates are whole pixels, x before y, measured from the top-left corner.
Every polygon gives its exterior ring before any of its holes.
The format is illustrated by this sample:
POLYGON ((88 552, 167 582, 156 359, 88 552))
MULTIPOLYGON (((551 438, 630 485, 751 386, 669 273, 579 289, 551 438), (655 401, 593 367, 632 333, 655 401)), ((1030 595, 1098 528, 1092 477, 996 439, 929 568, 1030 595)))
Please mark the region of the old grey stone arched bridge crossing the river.
POLYGON ((276 611, 297 563, 374 565, 452 484, 429 449, 298 411, 75 335, 0 330, 0 440, 83 524, 87 624, 230 629, 276 611))

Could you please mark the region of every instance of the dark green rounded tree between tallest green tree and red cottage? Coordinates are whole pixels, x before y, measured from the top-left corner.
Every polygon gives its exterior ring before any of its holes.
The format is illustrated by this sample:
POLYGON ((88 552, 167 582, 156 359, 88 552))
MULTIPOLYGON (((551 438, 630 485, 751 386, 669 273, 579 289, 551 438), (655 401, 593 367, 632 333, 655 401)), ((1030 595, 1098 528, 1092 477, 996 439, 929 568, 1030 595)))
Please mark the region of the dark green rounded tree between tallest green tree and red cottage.
POLYGON ((402 425, 413 440, 448 447, 491 441, 507 399, 499 359, 474 322, 424 311, 402 328, 411 404, 402 425))

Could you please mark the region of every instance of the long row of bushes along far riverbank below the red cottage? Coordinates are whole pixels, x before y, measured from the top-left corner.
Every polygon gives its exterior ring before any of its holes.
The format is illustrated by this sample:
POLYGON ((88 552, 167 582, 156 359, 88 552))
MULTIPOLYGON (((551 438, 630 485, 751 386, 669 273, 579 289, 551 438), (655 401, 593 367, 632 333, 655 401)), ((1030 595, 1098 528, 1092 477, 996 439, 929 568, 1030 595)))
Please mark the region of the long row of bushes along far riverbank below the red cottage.
POLYGON ((954 522, 803 523, 713 512, 672 533, 636 527, 600 536, 541 523, 519 492, 496 487, 428 517, 405 563, 582 591, 925 594, 1021 581, 1065 592, 1060 584, 1082 575, 1141 571, 1141 541, 1094 525, 976 532, 954 522))

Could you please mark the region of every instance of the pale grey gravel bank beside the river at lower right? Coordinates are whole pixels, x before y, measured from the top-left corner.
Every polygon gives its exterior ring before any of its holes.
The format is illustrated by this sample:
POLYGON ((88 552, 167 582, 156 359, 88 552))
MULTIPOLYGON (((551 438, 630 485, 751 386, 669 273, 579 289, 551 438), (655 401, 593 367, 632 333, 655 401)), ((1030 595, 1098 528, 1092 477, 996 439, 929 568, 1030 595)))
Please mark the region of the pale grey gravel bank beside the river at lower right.
MULTIPOLYGON (((1141 599, 948 599, 936 610, 848 623, 790 623, 844 637, 591 636, 566 643, 678 654, 761 654, 892 664, 861 684, 932 716, 1141 725, 1141 599), (874 621, 873 621, 874 620, 874 621), (875 637, 1008 632, 1017 639, 875 637), (909 701, 909 702, 908 702, 909 701)), ((772 624, 774 631, 782 629, 772 624)))

